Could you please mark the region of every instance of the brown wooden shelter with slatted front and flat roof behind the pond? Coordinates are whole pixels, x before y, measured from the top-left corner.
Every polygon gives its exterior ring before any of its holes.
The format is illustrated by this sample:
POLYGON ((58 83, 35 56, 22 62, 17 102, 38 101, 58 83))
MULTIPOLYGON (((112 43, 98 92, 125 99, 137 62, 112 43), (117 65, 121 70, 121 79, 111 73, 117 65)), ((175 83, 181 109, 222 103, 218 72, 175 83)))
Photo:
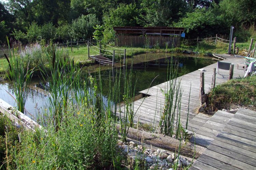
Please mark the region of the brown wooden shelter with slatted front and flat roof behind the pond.
POLYGON ((179 47, 181 33, 179 27, 114 27, 115 46, 165 46, 179 47))

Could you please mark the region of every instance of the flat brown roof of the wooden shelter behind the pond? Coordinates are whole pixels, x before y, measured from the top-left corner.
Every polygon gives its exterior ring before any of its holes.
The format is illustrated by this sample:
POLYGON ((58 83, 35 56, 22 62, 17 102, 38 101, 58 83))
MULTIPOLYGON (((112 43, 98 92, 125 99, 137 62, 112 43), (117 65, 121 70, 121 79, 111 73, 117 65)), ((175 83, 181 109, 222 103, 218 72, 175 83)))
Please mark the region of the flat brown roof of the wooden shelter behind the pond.
POLYGON ((116 34, 181 34, 182 27, 114 27, 116 34))

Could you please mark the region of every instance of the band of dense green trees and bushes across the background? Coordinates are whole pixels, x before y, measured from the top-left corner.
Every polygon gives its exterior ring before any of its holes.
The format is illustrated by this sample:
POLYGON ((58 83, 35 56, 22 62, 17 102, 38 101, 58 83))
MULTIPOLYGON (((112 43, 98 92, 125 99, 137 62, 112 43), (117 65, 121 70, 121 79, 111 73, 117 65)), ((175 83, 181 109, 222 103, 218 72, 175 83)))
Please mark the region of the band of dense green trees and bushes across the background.
POLYGON ((228 34, 231 25, 255 29, 255 16, 255 0, 8 0, 0 2, 0 41, 87 39, 99 27, 109 41, 114 26, 177 26, 205 37, 228 34))

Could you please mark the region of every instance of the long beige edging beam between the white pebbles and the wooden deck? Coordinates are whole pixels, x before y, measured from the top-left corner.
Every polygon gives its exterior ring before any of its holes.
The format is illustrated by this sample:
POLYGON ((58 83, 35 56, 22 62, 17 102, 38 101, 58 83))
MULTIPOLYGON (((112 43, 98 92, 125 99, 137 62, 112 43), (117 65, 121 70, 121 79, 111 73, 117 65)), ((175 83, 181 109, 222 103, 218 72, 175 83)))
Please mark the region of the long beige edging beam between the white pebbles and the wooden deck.
MULTIPOLYGON (((117 125, 116 128, 117 130, 120 130, 120 125, 117 125)), ((129 128, 127 137, 136 141, 141 141, 141 139, 144 138, 143 143, 168 151, 177 153, 179 150, 180 141, 178 139, 160 133, 151 133, 144 130, 129 128)), ((181 141, 180 154, 190 158, 193 158, 194 156, 194 158, 197 159, 205 149, 205 147, 195 145, 189 141, 181 141)))

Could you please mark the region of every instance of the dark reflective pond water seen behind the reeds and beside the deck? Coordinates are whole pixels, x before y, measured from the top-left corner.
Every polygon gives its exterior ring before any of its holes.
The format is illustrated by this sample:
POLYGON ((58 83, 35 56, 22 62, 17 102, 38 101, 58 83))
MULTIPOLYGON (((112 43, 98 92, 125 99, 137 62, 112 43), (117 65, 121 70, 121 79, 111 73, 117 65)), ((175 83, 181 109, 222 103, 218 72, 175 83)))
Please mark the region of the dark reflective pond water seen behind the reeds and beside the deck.
MULTIPOLYGON (((167 54, 141 54, 135 56, 133 60, 128 58, 127 63, 128 65, 133 62, 132 67, 132 80, 138 78, 136 83, 136 95, 139 94, 139 91, 149 88, 151 86, 155 86, 157 84, 163 83, 167 81, 167 70, 168 64, 172 61, 172 64, 179 64, 178 72, 180 75, 184 75, 186 73, 195 71, 199 68, 208 66, 213 64, 213 60, 209 60, 209 58, 198 58, 194 56, 183 56, 183 55, 175 55, 172 57, 168 56, 167 54), (141 62, 146 61, 146 62, 141 62), (154 81, 153 81, 154 80, 154 81), (152 82, 153 81, 153 82, 152 82)), ((169 66, 170 67, 170 66, 169 66)), ((124 69, 127 71, 130 70, 130 66, 121 67, 121 68, 109 68, 109 67, 100 67, 100 73, 97 71, 99 68, 96 69, 95 66, 83 68, 85 74, 90 72, 90 74, 95 77, 96 79, 99 77, 98 75, 101 74, 102 79, 102 86, 103 86, 103 96, 106 98, 109 91, 109 86, 113 84, 113 80, 116 79, 116 75, 119 77, 119 73, 121 72, 121 77, 124 76, 124 69), (96 70, 96 72, 94 72, 96 70)), ((169 68, 170 69, 170 68, 169 68)), ((134 83, 135 81, 133 81, 134 83)), ((36 118, 38 112, 44 109, 44 105, 47 105, 48 102, 48 95, 47 90, 43 90, 44 87, 47 87, 47 82, 44 83, 46 86, 42 85, 40 80, 32 81, 29 92, 28 98, 26 101, 25 109, 27 116, 30 118, 36 118)), ((134 84, 133 84, 134 85, 134 84)), ((122 81, 120 82, 120 91, 124 91, 122 88, 124 84, 122 81)), ((120 94, 122 96, 122 94, 120 94)), ((3 99, 5 102, 9 103, 12 106, 17 106, 14 100, 14 93, 12 91, 12 83, 10 82, 1 82, 0 83, 0 98, 3 99)), ((106 99, 105 99, 106 101, 106 99)))

